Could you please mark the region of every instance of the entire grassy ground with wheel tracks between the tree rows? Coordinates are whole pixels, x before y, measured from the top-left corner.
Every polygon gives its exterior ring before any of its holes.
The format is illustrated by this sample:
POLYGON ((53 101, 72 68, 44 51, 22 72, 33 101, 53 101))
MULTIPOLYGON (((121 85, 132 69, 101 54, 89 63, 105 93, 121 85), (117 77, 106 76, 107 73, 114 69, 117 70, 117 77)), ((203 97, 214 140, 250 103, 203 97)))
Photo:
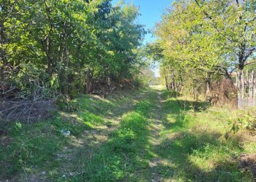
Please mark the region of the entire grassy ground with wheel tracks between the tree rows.
POLYGON ((238 157, 256 152, 255 138, 244 130, 224 137, 236 111, 162 87, 72 102, 78 111, 1 135, 0 180, 252 181, 238 157))

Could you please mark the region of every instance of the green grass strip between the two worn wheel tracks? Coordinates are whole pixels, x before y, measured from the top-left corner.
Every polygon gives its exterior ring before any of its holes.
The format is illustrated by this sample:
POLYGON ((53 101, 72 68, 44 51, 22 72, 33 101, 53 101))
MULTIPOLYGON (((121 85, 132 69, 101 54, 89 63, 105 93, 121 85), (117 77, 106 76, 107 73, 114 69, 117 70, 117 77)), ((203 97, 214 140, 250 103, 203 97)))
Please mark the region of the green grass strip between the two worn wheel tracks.
POLYGON ((127 176, 132 177, 134 170, 139 172, 144 165, 147 165, 147 162, 143 161, 148 143, 147 119, 144 111, 150 105, 142 101, 136 107, 135 111, 130 111, 122 117, 120 127, 110 134, 108 142, 97 146, 90 159, 91 163, 84 160, 81 165, 85 168, 85 172, 71 178, 71 181, 124 180, 127 176), (94 167, 95 164, 97 167, 94 167))

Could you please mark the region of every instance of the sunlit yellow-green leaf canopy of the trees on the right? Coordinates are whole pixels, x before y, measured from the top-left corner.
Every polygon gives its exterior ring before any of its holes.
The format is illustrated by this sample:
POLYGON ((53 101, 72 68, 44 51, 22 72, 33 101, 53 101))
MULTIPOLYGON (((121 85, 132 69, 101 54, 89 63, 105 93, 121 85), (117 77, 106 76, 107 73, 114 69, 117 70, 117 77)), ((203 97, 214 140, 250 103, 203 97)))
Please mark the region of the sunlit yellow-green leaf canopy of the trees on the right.
POLYGON ((164 55, 206 72, 243 69, 254 57, 254 5, 232 0, 176 1, 157 24, 164 55), (241 55, 242 49, 248 52, 241 55))

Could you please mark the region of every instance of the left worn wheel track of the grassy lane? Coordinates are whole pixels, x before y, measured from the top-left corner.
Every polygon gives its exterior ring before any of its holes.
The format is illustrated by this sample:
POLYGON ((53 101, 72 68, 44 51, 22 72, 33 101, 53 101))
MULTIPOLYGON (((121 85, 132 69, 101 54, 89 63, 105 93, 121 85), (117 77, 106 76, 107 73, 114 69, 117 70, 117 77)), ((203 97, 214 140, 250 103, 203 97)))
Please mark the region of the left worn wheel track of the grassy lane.
POLYGON ((75 165, 78 165, 77 163, 74 163, 74 161, 81 160, 81 156, 89 157, 89 160, 91 160, 90 158, 97 152, 98 146, 107 143, 110 139, 111 132, 117 130, 122 115, 132 111, 136 103, 147 97, 148 92, 140 92, 139 95, 136 95, 135 98, 133 98, 132 102, 123 103, 120 108, 114 108, 113 111, 111 111, 111 115, 105 116, 104 118, 106 121, 110 122, 110 126, 102 125, 94 127, 94 130, 85 130, 83 135, 80 135, 79 138, 71 136, 69 145, 64 146, 56 157, 57 161, 64 160, 63 165, 61 165, 61 175, 65 176, 65 178, 70 177, 70 174, 79 175, 80 173, 70 170, 70 168, 75 169, 75 165))

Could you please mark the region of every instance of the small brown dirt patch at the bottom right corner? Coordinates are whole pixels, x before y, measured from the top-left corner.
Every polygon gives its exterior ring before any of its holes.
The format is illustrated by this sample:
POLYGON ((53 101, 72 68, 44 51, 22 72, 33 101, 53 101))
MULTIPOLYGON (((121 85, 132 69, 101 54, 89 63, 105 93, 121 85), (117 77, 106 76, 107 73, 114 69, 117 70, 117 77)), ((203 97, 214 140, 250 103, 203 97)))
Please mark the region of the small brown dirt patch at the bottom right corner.
POLYGON ((242 155, 239 165, 244 170, 252 170, 253 178, 256 181, 256 154, 242 155))

